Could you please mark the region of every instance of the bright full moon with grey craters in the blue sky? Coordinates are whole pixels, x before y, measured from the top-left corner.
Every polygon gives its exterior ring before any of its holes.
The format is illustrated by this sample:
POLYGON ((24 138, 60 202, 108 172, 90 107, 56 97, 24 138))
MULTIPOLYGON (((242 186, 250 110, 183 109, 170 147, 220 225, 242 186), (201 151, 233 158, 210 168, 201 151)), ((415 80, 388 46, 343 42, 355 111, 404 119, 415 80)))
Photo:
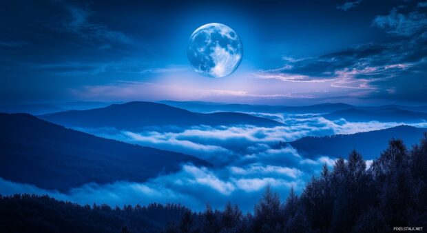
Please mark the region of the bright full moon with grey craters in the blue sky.
POLYGON ((206 77, 233 73, 242 61, 242 41, 233 29, 221 23, 197 28, 189 39, 187 57, 193 68, 206 77))

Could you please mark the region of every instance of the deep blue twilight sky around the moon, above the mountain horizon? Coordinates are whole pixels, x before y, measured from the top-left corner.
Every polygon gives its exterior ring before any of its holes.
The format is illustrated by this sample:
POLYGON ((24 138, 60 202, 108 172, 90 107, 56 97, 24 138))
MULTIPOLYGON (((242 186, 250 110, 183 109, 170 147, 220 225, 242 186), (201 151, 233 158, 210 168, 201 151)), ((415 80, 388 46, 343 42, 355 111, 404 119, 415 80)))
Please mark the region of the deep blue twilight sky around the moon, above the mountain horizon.
POLYGON ((0 103, 427 103, 427 1, 2 1, 0 103), (243 43, 229 77, 187 61, 191 33, 243 43))

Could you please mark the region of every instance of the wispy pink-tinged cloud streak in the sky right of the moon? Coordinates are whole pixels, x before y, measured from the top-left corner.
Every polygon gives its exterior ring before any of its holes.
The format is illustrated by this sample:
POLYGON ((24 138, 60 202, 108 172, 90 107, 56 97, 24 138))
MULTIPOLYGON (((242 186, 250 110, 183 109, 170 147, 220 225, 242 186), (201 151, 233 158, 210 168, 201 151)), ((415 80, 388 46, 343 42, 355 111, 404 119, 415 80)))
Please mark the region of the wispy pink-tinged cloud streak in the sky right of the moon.
MULTIPOLYGON (((423 46, 426 40, 427 36, 420 34, 405 42, 366 44, 319 57, 285 59, 282 67, 262 70, 254 77, 302 83, 305 87, 320 85, 329 91, 329 96, 333 92, 331 88, 353 97, 382 93, 385 98, 399 93, 408 94, 406 88, 396 87, 400 79, 415 79, 415 76, 425 72, 426 54, 423 46), (393 92, 387 91, 390 88, 393 88, 393 92)), ((408 85, 419 83, 420 80, 416 80, 408 85)), ((421 82, 421 85, 426 84, 421 82)), ((314 92, 312 95, 320 97, 314 92)))

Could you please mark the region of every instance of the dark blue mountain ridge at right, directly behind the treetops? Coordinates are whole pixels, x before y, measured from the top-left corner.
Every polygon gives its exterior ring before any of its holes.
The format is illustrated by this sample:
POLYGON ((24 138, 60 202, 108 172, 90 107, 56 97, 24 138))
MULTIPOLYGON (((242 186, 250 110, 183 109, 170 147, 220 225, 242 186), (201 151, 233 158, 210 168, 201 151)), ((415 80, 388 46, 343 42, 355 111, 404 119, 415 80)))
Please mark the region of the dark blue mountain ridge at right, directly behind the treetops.
MULTIPOLYGON (((384 130, 360 132, 356 134, 336 134, 333 136, 306 136, 289 142, 300 154, 309 158, 320 155, 338 158, 346 157, 351 150, 357 150, 365 159, 374 159, 387 147, 392 138, 402 139, 410 147, 419 143, 427 128, 400 125, 384 130)), ((282 146, 288 143, 281 143, 282 146)))

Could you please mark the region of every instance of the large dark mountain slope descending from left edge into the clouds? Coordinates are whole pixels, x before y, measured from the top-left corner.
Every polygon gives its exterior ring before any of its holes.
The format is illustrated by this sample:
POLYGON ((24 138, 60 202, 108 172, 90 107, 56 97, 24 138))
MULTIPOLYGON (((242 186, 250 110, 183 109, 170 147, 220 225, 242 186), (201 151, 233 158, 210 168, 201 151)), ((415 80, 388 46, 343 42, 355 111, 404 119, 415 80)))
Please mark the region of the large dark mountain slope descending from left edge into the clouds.
POLYGON ((103 139, 30 114, 0 114, 0 176, 67 191, 85 183, 142 182, 180 169, 211 166, 194 156, 103 139))

